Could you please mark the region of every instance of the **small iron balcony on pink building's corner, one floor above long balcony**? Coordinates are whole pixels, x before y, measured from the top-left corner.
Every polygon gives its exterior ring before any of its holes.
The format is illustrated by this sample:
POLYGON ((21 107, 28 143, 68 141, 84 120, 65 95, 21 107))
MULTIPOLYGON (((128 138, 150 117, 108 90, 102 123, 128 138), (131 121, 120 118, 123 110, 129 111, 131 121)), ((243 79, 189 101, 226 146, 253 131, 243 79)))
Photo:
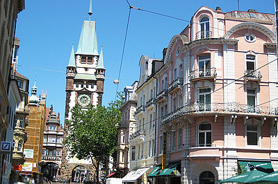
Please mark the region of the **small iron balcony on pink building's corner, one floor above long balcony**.
POLYGON ((217 73, 215 68, 208 68, 206 70, 195 70, 195 71, 191 71, 189 74, 189 80, 196 82, 198 80, 209 80, 209 79, 214 79, 216 77, 217 73))

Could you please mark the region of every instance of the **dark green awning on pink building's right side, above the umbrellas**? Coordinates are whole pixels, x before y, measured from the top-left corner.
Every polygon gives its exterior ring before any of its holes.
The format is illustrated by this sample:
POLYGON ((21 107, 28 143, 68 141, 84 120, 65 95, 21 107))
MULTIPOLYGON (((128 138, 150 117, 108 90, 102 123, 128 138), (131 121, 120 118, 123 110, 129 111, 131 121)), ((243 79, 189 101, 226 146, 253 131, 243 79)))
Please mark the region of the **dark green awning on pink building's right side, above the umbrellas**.
POLYGON ((266 173, 274 172, 270 162, 238 161, 238 165, 243 173, 254 169, 266 173))

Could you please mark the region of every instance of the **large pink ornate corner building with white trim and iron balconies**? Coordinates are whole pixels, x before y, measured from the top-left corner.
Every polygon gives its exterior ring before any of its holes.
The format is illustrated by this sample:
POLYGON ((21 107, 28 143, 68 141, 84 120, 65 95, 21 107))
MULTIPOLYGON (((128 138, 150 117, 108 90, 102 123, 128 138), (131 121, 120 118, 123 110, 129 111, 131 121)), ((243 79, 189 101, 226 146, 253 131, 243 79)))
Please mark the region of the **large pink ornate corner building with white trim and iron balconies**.
POLYGON ((275 34, 275 15, 202 6, 172 37, 154 75, 153 183, 216 183, 245 169, 278 169, 275 34))

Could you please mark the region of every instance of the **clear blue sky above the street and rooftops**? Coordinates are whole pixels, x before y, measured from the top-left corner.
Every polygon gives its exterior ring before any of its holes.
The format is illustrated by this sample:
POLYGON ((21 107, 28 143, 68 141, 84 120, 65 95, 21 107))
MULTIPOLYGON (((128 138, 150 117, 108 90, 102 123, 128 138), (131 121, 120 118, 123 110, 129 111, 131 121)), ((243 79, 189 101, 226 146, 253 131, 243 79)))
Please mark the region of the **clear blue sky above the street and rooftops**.
MULTIPOLYGON (((274 13, 274 2, 240 0, 240 10, 274 13)), ((47 107, 53 103, 62 123, 65 116, 65 67, 72 42, 77 49, 84 17, 88 20, 89 3, 90 0, 25 0, 25 10, 17 19, 16 37, 21 40, 17 71, 29 78, 29 91, 37 78, 38 93, 47 91, 47 107)), ((222 12, 238 10, 238 0, 129 0, 129 3, 188 21, 201 6, 213 9, 220 6, 222 12)), ((107 105, 115 98, 117 86, 113 79, 119 74, 129 6, 126 0, 92 0, 92 13, 92 18, 97 21, 99 50, 101 44, 104 45, 106 80, 103 104, 107 105)), ((187 25, 186 21, 132 9, 118 91, 138 80, 141 55, 161 59, 163 48, 187 25)))

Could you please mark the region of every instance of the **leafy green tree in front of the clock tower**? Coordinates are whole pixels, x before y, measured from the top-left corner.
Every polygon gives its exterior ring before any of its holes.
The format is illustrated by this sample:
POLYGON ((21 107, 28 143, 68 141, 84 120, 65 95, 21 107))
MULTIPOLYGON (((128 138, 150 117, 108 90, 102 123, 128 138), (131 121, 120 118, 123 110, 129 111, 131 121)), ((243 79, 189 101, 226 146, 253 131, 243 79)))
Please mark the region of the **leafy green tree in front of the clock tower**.
POLYGON ((108 156, 115 156, 117 151, 120 106, 120 100, 110 102, 108 107, 91 105, 85 110, 76 105, 71 110, 71 120, 65 122, 68 130, 65 145, 70 151, 70 157, 90 159, 97 172, 97 183, 99 164, 108 156))

